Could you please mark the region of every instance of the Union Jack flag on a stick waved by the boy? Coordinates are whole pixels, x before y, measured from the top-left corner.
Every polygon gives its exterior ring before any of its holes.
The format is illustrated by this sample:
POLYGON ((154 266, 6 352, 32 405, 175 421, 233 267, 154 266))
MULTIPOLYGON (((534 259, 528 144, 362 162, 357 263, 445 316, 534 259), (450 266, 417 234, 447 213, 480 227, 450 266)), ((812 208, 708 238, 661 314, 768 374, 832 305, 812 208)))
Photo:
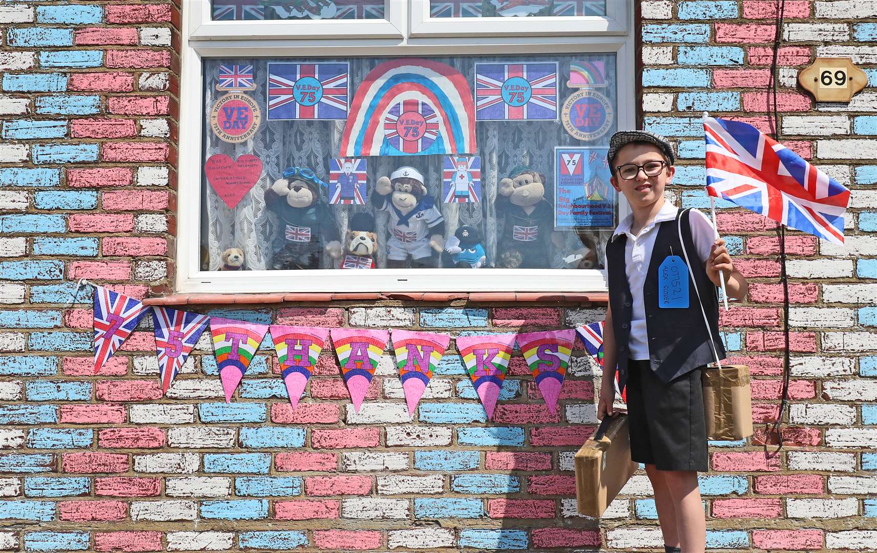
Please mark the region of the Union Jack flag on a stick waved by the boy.
POLYGON ((704 117, 707 193, 844 243, 850 191, 751 124, 704 117))

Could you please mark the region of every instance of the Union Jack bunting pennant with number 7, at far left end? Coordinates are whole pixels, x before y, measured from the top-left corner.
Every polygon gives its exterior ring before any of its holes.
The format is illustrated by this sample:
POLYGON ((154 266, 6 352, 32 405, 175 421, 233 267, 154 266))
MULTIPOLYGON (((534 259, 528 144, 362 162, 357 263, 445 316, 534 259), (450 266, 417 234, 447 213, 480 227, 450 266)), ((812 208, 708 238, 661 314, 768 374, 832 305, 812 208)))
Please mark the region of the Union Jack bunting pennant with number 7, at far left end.
POLYGON ((131 336, 148 308, 141 301, 109 288, 95 287, 95 374, 131 336))

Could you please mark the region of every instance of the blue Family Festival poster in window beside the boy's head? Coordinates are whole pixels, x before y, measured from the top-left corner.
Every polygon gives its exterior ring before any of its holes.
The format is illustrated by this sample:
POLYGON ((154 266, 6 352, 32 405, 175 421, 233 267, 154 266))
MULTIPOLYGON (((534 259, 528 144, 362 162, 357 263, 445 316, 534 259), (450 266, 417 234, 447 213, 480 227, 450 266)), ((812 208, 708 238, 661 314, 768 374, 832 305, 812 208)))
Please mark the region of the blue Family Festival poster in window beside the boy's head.
POLYGON ((554 148, 554 228, 615 226, 615 188, 610 183, 606 148, 554 148))

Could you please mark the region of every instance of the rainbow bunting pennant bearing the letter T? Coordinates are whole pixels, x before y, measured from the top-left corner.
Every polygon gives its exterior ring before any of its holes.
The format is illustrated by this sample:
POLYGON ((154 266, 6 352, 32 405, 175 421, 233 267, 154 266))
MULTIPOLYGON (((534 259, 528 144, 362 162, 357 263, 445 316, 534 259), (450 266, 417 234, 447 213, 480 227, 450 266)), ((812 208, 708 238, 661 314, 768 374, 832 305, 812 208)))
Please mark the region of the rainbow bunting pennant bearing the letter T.
POLYGON ((210 317, 210 334, 213 336, 213 352, 217 358, 219 378, 225 391, 225 403, 232 401, 244 372, 253 361, 262 338, 268 331, 267 324, 245 323, 232 319, 210 317))

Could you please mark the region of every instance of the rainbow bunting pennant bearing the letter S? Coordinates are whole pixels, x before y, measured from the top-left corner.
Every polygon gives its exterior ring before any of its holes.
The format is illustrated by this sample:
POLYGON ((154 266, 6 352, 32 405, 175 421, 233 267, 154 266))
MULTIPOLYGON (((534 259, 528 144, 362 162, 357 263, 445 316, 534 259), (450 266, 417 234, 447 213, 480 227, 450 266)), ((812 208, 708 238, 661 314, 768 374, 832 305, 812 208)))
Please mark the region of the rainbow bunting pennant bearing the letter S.
POLYGON ((560 386, 567 375, 574 341, 575 330, 572 329, 517 335, 517 345, 530 365, 539 393, 545 398, 545 405, 552 415, 557 409, 560 386))

